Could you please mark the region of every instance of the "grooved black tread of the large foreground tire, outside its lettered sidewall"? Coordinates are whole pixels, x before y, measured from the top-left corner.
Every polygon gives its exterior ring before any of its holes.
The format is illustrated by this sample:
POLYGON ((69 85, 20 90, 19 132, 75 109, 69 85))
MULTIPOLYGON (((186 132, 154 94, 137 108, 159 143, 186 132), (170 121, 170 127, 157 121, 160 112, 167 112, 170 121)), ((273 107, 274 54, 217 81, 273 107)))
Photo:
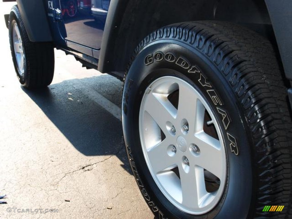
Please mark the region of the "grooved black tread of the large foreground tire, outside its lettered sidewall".
POLYGON ((252 218, 292 218, 292 123, 282 67, 271 43, 230 22, 196 21, 162 27, 146 36, 127 66, 153 41, 175 39, 211 60, 229 82, 253 136, 256 175, 252 218), (265 205, 284 205, 281 214, 263 212, 265 205))

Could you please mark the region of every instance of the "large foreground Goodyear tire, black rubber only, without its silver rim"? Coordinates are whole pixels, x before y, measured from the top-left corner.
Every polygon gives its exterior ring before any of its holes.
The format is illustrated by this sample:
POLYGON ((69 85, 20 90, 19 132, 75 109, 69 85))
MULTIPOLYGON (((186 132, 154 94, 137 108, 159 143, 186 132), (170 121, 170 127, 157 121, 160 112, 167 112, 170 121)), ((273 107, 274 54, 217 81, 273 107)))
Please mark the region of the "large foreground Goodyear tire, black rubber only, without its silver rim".
POLYGON ((228 22, 170 25, 139 44, 125 74, 122 122, 135 179, 157 218, 292 218, 292 125, 280 69, 269 41, 228 22), (141 101, 148 86, 164 76, 201 93, 223 134, 225 189, 218 204, 201 215, 180 210, 164 196, 142 151, 141 101), (208 86, 199 83, 202 76, 208 86), (265 206, 284 208, 265 212, 265 206))

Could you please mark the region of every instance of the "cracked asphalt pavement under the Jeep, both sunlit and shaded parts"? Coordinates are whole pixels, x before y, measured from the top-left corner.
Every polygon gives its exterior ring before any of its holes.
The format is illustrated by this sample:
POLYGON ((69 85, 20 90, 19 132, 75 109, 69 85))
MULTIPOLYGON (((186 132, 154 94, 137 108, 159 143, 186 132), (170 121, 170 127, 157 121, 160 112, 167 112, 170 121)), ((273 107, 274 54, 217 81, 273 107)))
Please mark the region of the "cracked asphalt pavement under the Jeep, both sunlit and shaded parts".
POLYGON ((3 17, 10 8, 0 2, 0 218, 153 219, 126 157, 122 83, 55 50, 53 83, 20 86, 3 17))

